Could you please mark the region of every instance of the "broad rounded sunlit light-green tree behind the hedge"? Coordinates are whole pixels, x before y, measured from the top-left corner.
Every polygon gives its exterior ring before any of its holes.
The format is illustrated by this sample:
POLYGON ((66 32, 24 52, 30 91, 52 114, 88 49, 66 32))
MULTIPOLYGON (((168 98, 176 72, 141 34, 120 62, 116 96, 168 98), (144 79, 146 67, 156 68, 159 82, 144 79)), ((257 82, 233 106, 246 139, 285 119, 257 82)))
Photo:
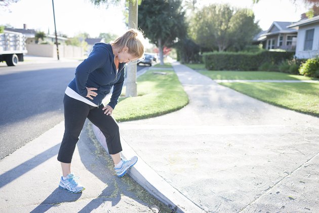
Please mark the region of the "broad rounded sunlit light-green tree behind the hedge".
POLYGON ((225 51, 232 47, 242 50, 258 32, 254 13, 249 9, 234 9, 229 5, 206 6, 190 21, 190 36, 203 48, 225 51))

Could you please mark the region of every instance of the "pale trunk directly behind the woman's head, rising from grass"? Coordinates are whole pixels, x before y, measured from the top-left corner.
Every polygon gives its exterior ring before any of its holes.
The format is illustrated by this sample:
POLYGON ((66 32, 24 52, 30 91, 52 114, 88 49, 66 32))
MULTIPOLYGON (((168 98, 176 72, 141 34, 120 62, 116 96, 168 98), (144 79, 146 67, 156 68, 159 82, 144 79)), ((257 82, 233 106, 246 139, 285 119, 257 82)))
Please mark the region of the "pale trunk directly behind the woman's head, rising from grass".
MULTIPOLYGON (((138 4, 137 0, 129 0, 129 27, 137 28, 137 14, 138 4)), ((126 97, 137 96, 137 84, 136 84, 136 64, 127 65, 127 80, 126 80, 126 97)))

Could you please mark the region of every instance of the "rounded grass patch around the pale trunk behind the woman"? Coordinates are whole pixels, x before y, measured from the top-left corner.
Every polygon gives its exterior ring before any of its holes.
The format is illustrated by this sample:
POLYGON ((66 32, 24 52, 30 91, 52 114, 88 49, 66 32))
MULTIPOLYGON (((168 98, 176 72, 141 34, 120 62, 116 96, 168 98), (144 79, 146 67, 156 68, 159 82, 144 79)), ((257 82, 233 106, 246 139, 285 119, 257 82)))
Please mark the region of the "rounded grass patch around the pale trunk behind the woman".
MULTIPOLYGON (((125 88, 123 88, 125 92, 125 88)), ((148 70, 137 79, 137 97, 120 97, 113 111, 117 121, 163 115, 183 108, 188 96, 173 70, 148 70), (154 74, 165 72, 166 75, 154 74)), ((107 103, 108 101, 106 101, 107 103)))

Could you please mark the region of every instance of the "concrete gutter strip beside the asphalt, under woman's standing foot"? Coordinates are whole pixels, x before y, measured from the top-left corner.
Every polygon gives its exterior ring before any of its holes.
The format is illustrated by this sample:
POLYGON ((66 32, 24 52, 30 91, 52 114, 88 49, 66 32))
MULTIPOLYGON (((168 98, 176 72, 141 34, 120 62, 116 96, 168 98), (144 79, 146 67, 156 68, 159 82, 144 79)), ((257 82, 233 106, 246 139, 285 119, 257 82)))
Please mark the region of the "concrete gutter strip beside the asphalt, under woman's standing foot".
POLYGON ((71 194, 58 188, 57 153, 64 122, 0 161, 0 212, 162 212, 170 208, 154 199, 129 176, 119 178, 113 162, 86 123, 77 143, 72 171, 86 187, 71 194))

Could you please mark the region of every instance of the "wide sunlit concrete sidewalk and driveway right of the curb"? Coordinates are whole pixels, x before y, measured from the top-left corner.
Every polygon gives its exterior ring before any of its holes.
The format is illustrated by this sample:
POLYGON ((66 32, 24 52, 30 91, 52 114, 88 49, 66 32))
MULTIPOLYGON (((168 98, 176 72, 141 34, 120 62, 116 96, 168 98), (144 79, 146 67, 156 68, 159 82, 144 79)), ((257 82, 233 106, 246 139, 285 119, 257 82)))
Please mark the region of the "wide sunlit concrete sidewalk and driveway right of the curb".
POLYGON ((198 211, 319 212, 319 119, 173 66, 189 104, 119 124, 140 159, 198 211))

